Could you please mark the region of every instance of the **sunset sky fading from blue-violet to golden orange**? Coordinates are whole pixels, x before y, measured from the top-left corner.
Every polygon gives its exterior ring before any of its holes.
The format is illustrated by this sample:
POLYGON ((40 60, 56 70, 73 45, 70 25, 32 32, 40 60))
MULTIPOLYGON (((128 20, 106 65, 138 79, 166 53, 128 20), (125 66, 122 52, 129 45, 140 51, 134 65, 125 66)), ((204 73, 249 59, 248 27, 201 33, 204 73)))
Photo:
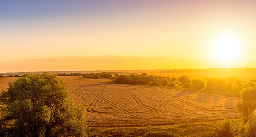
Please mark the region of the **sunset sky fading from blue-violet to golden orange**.
POLYGON ((255 4, 0 1, 0 72, 255 68, 255 4))

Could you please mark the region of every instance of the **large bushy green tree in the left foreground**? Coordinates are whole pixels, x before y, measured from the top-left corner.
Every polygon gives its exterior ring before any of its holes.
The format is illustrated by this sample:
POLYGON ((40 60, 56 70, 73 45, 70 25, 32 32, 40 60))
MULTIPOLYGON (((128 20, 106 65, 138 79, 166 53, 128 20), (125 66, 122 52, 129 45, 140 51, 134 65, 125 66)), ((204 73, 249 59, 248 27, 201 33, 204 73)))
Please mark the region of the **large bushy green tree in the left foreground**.
POLYGON ((87 136, 85 109, 70 100, 56 74, 27 73, 0 93, 0 135, 4 137, 87 136))

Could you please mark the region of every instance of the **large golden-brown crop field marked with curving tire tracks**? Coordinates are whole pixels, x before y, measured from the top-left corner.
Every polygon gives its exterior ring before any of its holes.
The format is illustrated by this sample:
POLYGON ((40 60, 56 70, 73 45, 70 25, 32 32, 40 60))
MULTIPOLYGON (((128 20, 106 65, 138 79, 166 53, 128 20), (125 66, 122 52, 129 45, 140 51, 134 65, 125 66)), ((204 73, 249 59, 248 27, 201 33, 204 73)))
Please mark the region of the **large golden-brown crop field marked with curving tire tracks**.
MULTIPOLYGON (((236 118, 240 98, 60 76, 71 98, 87 109, 88 126, 164 125, 236 118)), ((1 89, 15 78, 1 78, 1 89)))

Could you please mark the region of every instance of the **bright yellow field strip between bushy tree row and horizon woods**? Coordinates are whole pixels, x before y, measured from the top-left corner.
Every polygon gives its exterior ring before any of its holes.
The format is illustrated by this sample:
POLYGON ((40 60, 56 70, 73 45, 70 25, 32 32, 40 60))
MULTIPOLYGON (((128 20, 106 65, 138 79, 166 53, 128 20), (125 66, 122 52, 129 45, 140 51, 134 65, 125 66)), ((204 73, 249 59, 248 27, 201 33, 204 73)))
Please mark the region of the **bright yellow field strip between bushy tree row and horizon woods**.
POLYGON ((235 77, 235 78, 241 78, 242 80, 249 81, 251 79, 256 79, 256 74, 222 74, 222 73, 147 73, 155 76, 170 76, 179 78, 183 75, 187 75, 191 80, 194 78, 202 78, 204 79, 205 77, 219 77, 219 78, 227 78, 227 77, 235 77))

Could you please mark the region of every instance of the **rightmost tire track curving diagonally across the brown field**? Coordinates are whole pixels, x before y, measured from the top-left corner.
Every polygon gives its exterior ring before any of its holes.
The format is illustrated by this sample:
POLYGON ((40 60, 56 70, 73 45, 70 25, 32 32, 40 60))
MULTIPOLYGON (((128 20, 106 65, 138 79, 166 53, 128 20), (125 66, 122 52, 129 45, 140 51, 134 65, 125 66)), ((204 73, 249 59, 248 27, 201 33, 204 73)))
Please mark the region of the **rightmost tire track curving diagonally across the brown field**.
MULTIPOLYGON (((149 88, 151 88, 151 87, 149 87, 149 88)), ((194 104, 192 104, 192 103, 190 103, 190 102, 188 102, 188 101, 181 100, 181 99, 179 99, 179 98, 177 98, 177 97, 174 97, 174 96, 172 96, 172 95, 170 95, 170 94, 164 93, 164 92, 162 92, 162 91, 160 91, 160 90, 158 90, 158 89, 154 89, 154 88, 151 88, 151 89, 153 89, 153 90, 155 90, 155 91, 157 91, 157 92, 159 92, 159 93, 165 94, 166 96, 169 96, 169 97, 171 97, 171 98, 173 98, 173 99, 175 99, 175 100, 177 100, 177 101, 179 101, 179 102, 182 102, 182 103, 184 103, 184 104, 186 104, 186 105, 189 105, 189 106, 191 106, 191 107, 193 107, 193 108, 196 108, 196 109, 198 109, 198 110, 202 110, 202 111, 212 111, 212 112, 216 112, 216 111, 230 111, 230 110, 211 110, 211 109, 202 108, 202 107, 197 106, 197 105, 194 105, 194 104)), ((233 110, 232 110, 232 111, 233 111, 233 110)))

